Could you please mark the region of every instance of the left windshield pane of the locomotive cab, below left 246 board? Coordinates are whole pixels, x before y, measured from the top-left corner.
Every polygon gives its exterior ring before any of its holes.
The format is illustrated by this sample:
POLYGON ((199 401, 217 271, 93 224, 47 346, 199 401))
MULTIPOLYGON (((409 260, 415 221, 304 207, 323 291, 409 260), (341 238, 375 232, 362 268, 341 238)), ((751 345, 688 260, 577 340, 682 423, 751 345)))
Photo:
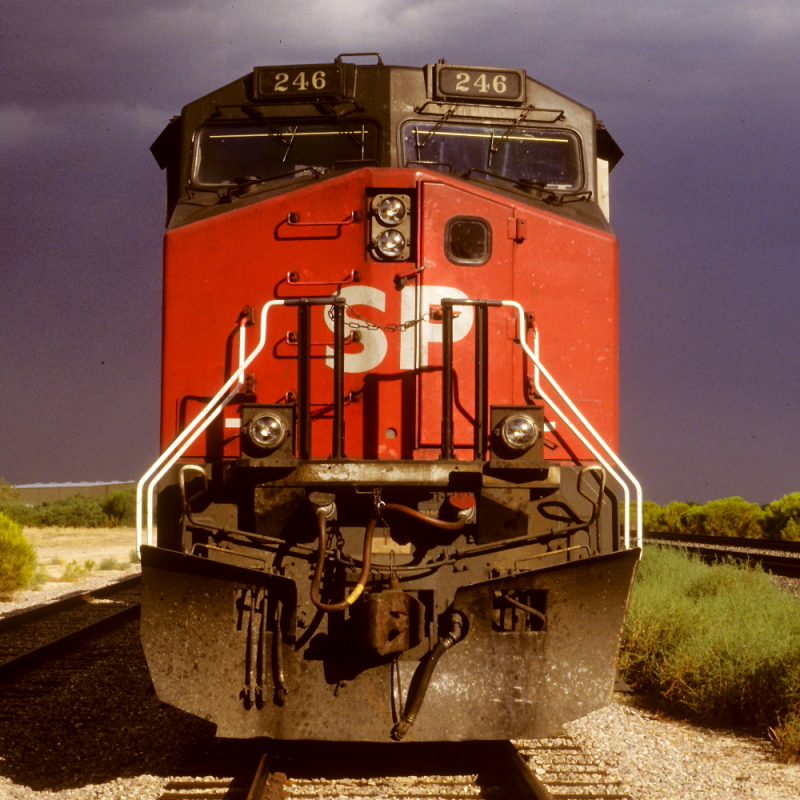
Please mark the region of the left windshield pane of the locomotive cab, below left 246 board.
POLYGON ((225 186, 309 167, 325 172, 348 162, 374 162, 377 154, 378 126, 373 122, 209 125, 195 136, 192 182, 225 186))

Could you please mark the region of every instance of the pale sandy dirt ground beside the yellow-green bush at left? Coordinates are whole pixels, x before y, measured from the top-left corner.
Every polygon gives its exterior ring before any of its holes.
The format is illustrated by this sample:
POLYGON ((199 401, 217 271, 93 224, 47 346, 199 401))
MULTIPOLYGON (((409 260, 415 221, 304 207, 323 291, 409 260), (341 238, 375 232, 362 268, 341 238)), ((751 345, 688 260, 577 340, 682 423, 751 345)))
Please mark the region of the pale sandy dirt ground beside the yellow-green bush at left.
POLYGON ((23 532, 36 548, 47 579, 36 588, 0 598, 0 616, 139 571, 138 562, 131 561, 136 553, 134 528, 24 528, 23 532))

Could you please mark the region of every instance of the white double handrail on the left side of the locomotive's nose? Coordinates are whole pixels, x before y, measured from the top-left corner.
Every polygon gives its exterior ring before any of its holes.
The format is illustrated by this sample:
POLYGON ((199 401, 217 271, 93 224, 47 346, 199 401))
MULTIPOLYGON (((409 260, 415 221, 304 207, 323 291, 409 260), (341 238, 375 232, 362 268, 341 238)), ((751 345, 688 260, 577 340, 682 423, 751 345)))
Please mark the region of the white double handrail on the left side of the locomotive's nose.
POLYGON ((249 356, 245 358, 245 335, 244 329, 246 321, 243 320, 239 325, 239 367, 236 372, 223 384, 222 388, 211 398, 200 413, 181 431, 173 440, 172 444, 158 457, 156 462, 145 472, 136 486, 136 549, 142 546, 142 517, 143 517, 143 493, 147 486, 147 544, 153 543, 153 490, 155 485, 172 468, 175 462, 194 444, 203 431, 216 419, 222 409, 230 403, 239 393, 244 384, 244 371, 258 354, 264 349, 267 341, 267 314, 273 306, 282 306, 284 300, 270 300, 261 309, 260 336, 258 344, 249 356), (158 474, 151 478, 153 473, 158 470, 158 474))

